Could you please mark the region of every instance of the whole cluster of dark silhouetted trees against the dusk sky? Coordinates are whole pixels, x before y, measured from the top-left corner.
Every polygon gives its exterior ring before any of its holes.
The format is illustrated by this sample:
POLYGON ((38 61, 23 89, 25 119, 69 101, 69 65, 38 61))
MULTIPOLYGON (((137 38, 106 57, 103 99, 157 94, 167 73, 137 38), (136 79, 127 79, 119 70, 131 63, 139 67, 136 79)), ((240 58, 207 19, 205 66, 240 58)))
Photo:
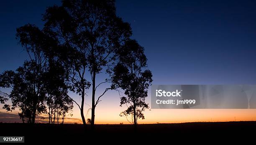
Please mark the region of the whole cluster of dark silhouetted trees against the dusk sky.
POLYGON ((120 116, 136 128, 149 108, 145 98, 152 74, 144 48, 131 39, 130 24, 116 15, 115 1, 63 0, 61 6, 48 7, 42 20, 42 29, 31 24, 17 28, 16 38, 30 59, 15 71, 0 74, 0 87, 11 89, 10 93, 0 90, 3 108, 18 108, 23 123, 35 123, 42 113, 48 115, 49 123, 64 123, 74 102, 85 126, 84 97, 90 91, 91 118, 87 120, 93 129, 101 97, 120 88, 124 91, 120 106, 128 106, 120 116), (100 73, 106 78, 97 83, 100 73), (109 87, 98 92, 102 84, 109 87), (69 91, 81 96, 81 102, 68 96, 69 91))

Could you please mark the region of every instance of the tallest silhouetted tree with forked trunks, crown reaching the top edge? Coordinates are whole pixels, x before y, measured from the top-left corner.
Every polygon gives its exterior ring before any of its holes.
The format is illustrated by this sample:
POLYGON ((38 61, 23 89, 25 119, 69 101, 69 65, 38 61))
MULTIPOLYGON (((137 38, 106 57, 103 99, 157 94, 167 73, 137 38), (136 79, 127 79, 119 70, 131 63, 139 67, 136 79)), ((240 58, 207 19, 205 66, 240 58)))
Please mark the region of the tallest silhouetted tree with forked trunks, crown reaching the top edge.
POLYGON ((96 84, 96 76, 107 71, 115 61, 115 52, 123 41, 131 36, 131 27, 115 14, 114 0, 63 0, 60 7, 53 6, 44 15, 45 29, 55 34, 62 46, 58 50, 60 59, 68 67, 71 91, 82 97, 81 112, 83 124, 85 90, 92 84, 92 117, 95 121, 95 107, 100 98, 111 88, 105 88, 95 100, 96 89, 105 81, 96 84), (87 69, 92 83, 86 79, 87 69))

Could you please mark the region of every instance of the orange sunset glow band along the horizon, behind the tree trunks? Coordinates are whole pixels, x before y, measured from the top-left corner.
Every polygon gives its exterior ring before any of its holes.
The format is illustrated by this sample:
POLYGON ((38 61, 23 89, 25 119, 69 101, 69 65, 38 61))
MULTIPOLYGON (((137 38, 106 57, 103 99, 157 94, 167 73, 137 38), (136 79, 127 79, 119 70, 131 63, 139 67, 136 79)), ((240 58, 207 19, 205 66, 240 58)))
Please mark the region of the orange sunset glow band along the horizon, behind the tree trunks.
MULTIPOLYGON (((95 124, 130 124, 125 117, 120 117, 119 114, 123 111, 124 107, 107 107, 108 104, 99 106, 95 110, 95 124)), ((90 113, 84 110, 85 118, 90 118, 90 113)), ((6 113, 4 109, 0 109, 0 113, 6 113)), ((16 121, 19 119, 18 112, 16 121)), ((79 109, 76 106, 73 109, 73 116, 67 116, 65 123, 78 123, 82 124, 79 109)), ((151 109, 145 111, 145 120, 138 120, 139 124, 151 123, 184 123, 184 122, 223 122, 223 121, 253 121, 256 120, 256 109, 151 109)), ((47 115, 44 119, 37 117, 37 122, 48 123, 47 115)), ((0 116, 0 122, 4 122, 0 116)), ((20 120, 21 122, 21 120, 20 120)))

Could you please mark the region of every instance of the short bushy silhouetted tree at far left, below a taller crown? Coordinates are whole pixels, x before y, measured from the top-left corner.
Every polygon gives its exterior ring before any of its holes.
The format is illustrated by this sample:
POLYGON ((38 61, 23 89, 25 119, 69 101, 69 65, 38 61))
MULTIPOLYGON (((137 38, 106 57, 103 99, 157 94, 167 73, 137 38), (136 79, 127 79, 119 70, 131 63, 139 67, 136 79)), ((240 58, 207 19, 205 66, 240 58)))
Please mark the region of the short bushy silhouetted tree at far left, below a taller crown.
POLYGON ((19 67, 16 72, 5 71, 1 76, 1 84, 6 88, 12 88, 9 98, 12 105, 5 105, 7 111, 18 108, 21 112, 18 113, 23 123, 34 123, 34 118, 46 111, 44 106, 44 92, 35 91, 35 81, 37 81, 34 69, 38 69, 36 62, 25 61, 24 65, 19 67), (35 104, 35 98, 37 98, 35 104), (34 109, 36 108, 36 112, 34 109))

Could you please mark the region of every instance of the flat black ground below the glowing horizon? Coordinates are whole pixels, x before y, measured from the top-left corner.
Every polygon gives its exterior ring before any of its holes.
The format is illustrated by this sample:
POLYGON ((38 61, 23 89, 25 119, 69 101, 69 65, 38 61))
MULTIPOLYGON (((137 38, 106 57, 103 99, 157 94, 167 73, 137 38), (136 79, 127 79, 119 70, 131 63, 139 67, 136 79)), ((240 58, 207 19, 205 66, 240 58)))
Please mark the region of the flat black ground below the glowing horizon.
MULTIPOLYGON (((112 142, 128 141, 142 138, 141 141, 179 140, 179 142, 197 143, 207 138, 208 142, 218 139, 255 140, 256 121, 213 122, 213 123, 173 123, 173 124, 140 124, 134 135, 132 125, 96 125, 92 133, 87 126, 86 133, 80 124, 26 124, 0 123, 0 136, 25 136, 25 143, 77 142, 90 141, 112 142)), ((209 142, 209 143, 210 143, 209 142)), ((253 141, 253 144, 255 141, 253 141)), ((208 143, 207 143, 208 144, 208 143)))

